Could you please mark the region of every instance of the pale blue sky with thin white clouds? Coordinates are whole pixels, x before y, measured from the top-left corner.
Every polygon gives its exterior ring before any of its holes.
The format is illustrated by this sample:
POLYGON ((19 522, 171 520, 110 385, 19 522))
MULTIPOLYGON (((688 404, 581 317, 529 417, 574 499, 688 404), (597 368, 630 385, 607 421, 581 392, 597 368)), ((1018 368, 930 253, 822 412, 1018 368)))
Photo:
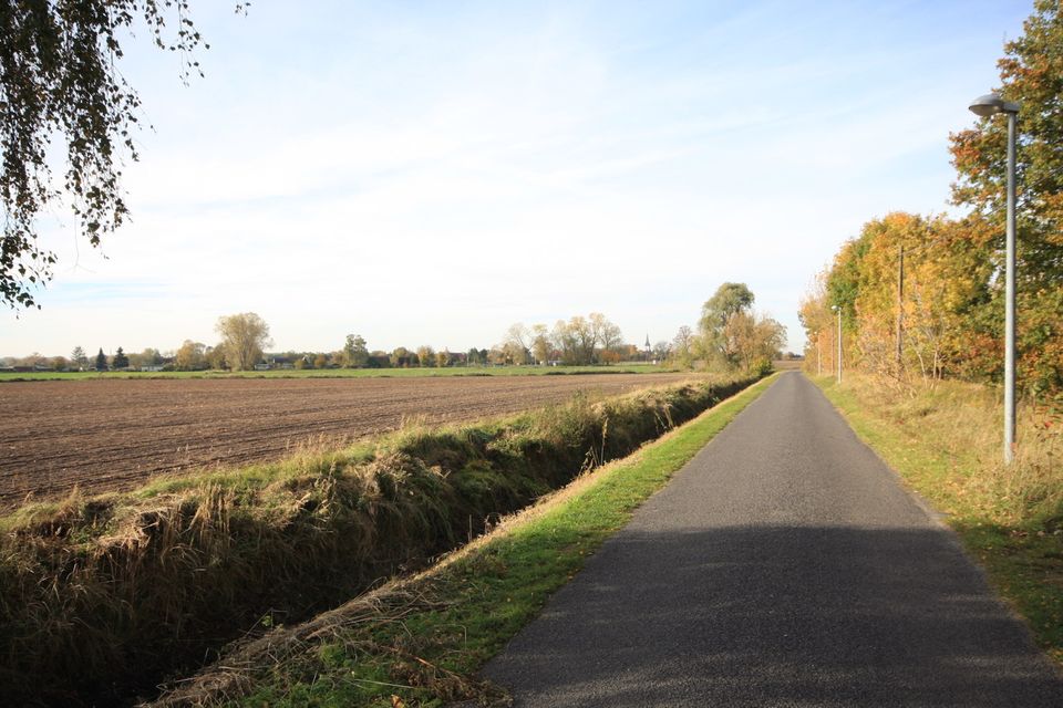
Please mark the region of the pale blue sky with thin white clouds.
POLYGON ((744 282, 799 352, 802 294, 861 226, 950 210, 948 136, 1029 0, 198 0, 206 76, 143 32, 132 220, 69 214, 0 355, 218 341, 466 351, 605 313, 629 342, 744 282), (293 8, 298 7, 296 11, 293 8))

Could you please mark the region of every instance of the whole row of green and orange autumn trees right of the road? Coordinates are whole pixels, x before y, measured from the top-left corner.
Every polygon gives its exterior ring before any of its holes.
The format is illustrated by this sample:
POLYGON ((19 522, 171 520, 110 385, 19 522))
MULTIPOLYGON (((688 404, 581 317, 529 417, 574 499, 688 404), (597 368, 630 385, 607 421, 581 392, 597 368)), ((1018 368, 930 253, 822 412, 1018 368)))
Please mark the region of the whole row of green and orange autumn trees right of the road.
MULTIPOLYGON (((1021 104, 1016 166, 1018 384, 1063 403, 1063 18, 1038 0, 1000 60, 1021 104)), ((1007 122, 980 118, 949 136, 952 218, 902 211, 868 221, 801 305, 811 367, 843 360, 900 384, 999 382, 1003 371, 1007 122)))

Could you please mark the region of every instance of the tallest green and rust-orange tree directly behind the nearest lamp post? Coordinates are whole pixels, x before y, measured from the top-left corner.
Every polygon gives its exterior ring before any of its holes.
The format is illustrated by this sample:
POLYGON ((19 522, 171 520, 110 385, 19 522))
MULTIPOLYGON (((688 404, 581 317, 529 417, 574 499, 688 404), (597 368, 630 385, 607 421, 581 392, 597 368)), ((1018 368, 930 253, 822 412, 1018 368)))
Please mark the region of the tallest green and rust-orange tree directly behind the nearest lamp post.
MULTIPOLYGON (((1023 34, 1004 45, 998 62, 999 93, 1020 104, 1016 119, 1015 295, 1019 385, 1032 392, 1063 389, 1063 8, 1035 0, 1023 34)), ((981 118, 950 135, 959 176, 952 198, 973 209, 970 247, 984 249, 998 270, 982 313, 989 323, 1003 311, 1008 122, 981 118), (983 233, 984 231, 984 233, 983 233)), ((995 339, 1000 330, 995 330, 995 339)), ((999 358, 997 360, 999 361, 999 358)), ((984 367, 980 367, 984 368, 984 367)), ((995 378, 995 376, 994 376, 995 378)))

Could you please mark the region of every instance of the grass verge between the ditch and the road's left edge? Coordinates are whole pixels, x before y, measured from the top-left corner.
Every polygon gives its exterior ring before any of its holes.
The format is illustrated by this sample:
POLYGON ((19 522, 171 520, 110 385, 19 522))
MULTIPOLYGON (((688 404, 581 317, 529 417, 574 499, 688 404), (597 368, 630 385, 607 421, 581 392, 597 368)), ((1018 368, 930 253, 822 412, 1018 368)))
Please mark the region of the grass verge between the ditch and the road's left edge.
POLYGON ((476 671, 776 377, 502 520, 429 571, 236 648, 154 705, 508 705, 476 671))

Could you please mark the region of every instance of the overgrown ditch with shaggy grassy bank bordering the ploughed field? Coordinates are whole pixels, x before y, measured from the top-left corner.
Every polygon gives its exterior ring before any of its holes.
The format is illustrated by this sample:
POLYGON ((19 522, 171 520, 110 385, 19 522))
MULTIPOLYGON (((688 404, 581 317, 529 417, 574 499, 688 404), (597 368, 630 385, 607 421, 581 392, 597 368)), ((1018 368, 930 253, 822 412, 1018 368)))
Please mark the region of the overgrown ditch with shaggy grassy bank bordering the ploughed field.
POLYGON ((710 379, 341 451, 185 476, 0 519, 0 702, 148 694, 250 628, 425 566, 751 379, 710 379))

